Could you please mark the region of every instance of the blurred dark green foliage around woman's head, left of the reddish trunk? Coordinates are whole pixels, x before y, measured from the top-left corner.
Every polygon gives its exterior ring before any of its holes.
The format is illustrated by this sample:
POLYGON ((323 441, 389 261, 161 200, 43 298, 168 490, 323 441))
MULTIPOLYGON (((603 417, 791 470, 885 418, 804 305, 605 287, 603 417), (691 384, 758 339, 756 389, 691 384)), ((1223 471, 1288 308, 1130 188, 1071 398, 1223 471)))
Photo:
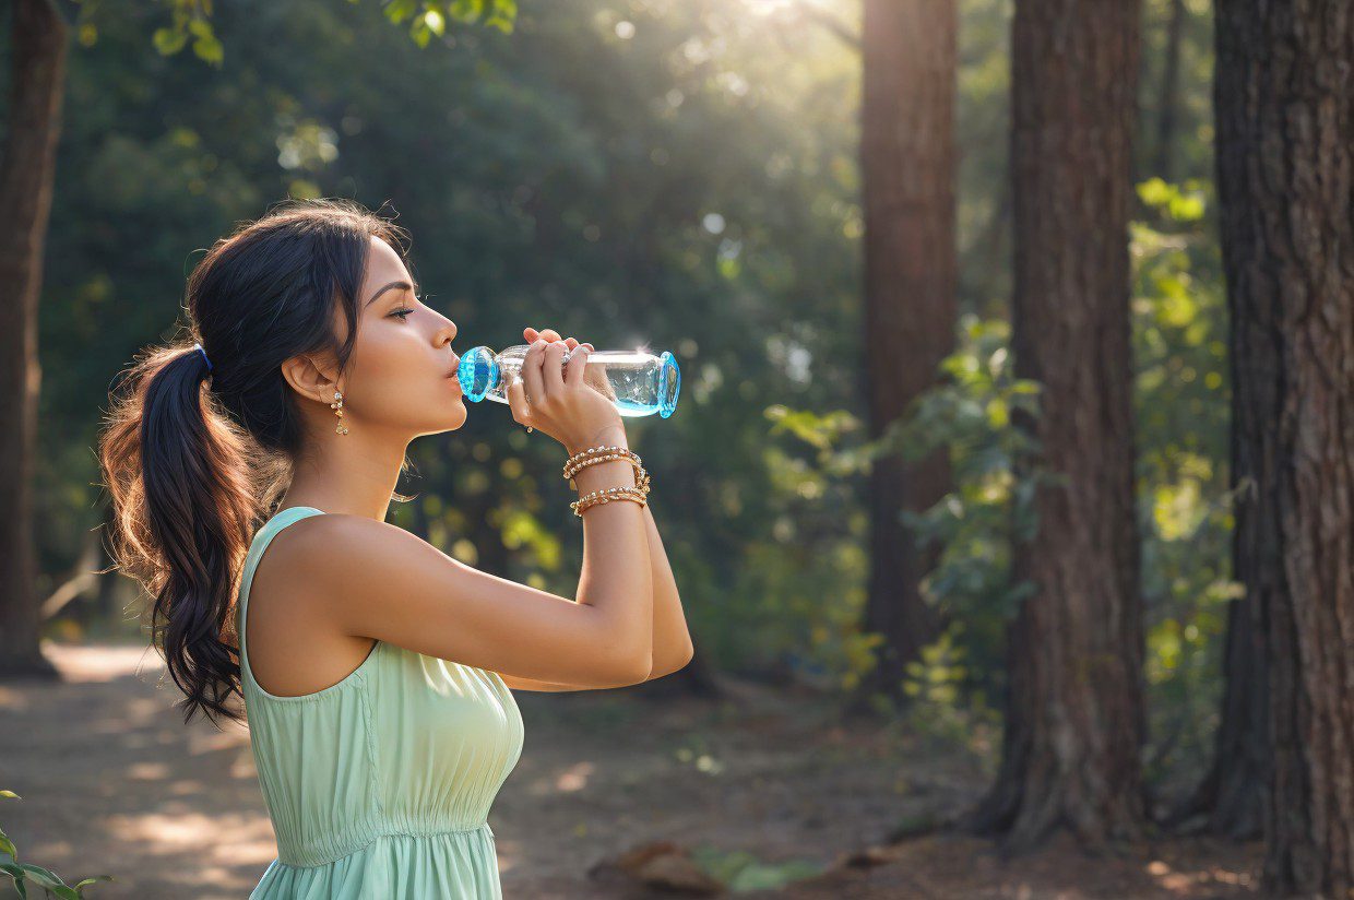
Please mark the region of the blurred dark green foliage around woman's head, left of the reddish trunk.
MULTIPOLYGON (((202 248, 288 194, 356 196, 389 200, 410 230, 425 302, 456 322, 458 348, 517 342, 524 325, 670 348, 677 414, 628 428, 703 650, 756 669, 774 660, 762 627, 781 621, 770 644, 802 652, 818 635, 815 652, 856 665, 852 486, 802 494, 761 415, 858 402, 850 51, 795 30, 768 54, 765 23, 719 3, 567 0, 523 11, 510 41, 439 9, 448 41, 429 53, 370 4, 217 4, 215 32, 240 49, 223 72, 145 53, 157 9, 103 16, 70 57, 47 240, 61 265, 39 317, 45 582, 97 533, 99 409, 131 355, 171 333, 202 248), (792 597, 766 594, 796 568, 811 578, 792 597), (787 606, 818 612, 796 621, 787 606)), ((418 499, 391 518, 571 593, 581 533, 558 445, 509 425, 473 405, 463 429, 416 441, 398 490, 418 499)))

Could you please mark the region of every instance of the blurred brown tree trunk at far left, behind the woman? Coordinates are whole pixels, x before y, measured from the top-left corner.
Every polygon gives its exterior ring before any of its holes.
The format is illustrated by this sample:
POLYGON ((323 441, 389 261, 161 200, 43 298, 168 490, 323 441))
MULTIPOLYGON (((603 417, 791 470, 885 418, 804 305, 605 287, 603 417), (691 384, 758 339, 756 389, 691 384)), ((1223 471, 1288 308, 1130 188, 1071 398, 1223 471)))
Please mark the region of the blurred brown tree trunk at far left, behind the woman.
POLYGON ((66 24, 50 0, 14 0, 9 123, 0 156, 0 674, 56 674, 38 648, 32 471, 38 292, 61 131, 66 24))

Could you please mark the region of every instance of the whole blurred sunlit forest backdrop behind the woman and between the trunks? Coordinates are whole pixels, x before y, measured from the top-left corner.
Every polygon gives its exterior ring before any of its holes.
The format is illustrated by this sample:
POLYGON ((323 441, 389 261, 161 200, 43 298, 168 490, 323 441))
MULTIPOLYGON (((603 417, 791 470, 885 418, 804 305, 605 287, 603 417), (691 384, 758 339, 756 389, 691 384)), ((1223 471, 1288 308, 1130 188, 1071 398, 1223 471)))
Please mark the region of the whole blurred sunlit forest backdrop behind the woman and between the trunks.
MULTIPOLYGON (((410 231, 424 302, 456 322, 458 352, 520 342, 531 325, 677 355, 677 413, 627 421, 696 644, 662 696, 793 692, 833 711, 823 721, 965 761, 976 786, 995 777, 1007 627, 1030 591, 1013 533, 1032 525, 1036 490, 1016 422, 1037 387, 1011 348, 1014 4, 957 4, 953 349, 884 436, 868 426, 858 4, 558 0, 524 4, 510 27, 413 35, 386 20, 391 5, 221 3, 194 53, 164 30, 165 7, 85 4, 38 319, 42 636, 145 646, 144 597, 100 574, 92 448, 108 392, 139 348, 176 334, 184 277, 234 222, 287 196, 345 196, 410 231), (896 510, 933 554, 932 625, 880 682, 891 637, 868 614, 869 468, 936 452, 952 474, 940 499, 896 510)), ((1210 769, 1228 604, 1243 593, 1213 39, 1208 0, 1141 4, 1128 238, 1155 817, 1210 769)), ((581 529, 552 441, 471 405, 410 462, 394 524, 504 578, 575 590, 581 529)), ((1239 831, 1255 838, 1258 823, 1239 831)), ((1232 866, 1239 884, 1252 862, 1232 866)))

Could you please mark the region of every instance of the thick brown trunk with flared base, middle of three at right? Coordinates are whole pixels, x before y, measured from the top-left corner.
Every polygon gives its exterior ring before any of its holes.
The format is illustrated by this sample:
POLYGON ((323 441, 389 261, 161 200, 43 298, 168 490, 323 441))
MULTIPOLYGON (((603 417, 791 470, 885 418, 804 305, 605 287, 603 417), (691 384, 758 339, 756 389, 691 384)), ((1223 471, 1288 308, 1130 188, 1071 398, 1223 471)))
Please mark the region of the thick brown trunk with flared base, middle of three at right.
MULTIPOLYGON (((1013 349, 1043 384, 1033 582, 1007 640, 1003 759, 971 824, 1026 850, 1141 834, 1145 734, 1128 221, 1139 4, 1021 0, 1011 41, 1013 349)), ((1022 463, 1028 466, 1028 463, 1022 463)), ((1024 472, 1022 472, 1024 474, 1024 472)))

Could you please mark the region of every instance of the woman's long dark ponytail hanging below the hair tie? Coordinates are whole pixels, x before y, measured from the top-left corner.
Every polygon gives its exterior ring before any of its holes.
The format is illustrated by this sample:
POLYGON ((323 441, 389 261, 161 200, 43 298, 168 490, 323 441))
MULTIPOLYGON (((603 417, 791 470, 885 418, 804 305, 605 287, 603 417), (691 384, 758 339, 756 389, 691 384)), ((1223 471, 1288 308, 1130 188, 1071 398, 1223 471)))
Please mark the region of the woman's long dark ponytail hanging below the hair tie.
POLYGON ((260 513, 257 453, 204 387, 207 365, 192 345, 144 355, 99 443, 114 559, 154 597, 152 639, 187 696, 185 723, 198 711, 242 720, 226 705, 240 694, 234 594, 260 513))

